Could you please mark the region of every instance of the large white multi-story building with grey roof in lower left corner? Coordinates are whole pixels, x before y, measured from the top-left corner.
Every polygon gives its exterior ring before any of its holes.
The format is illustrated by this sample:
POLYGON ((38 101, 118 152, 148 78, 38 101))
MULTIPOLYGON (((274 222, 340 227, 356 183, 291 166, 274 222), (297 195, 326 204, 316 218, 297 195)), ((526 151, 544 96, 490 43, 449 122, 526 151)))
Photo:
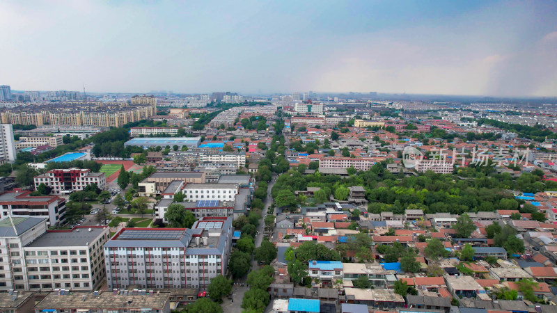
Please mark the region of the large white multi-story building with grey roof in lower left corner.
POLYGON ((47 230, 47 219, 0 220, 0 290, 93 291, 104 283, 102 247, 109 227, 47 230))

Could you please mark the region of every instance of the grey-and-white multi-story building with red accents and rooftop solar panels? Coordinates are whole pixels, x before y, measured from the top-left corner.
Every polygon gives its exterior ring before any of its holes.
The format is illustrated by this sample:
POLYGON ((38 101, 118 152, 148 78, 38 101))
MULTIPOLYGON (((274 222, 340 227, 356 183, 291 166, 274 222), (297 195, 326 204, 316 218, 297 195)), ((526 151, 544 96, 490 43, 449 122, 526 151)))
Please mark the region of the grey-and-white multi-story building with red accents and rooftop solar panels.
POLYGON ((104 245, 108 289, 196 288, 226 275, 232 217, 205 217, 191 229, 120 230, 104 245))

